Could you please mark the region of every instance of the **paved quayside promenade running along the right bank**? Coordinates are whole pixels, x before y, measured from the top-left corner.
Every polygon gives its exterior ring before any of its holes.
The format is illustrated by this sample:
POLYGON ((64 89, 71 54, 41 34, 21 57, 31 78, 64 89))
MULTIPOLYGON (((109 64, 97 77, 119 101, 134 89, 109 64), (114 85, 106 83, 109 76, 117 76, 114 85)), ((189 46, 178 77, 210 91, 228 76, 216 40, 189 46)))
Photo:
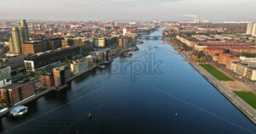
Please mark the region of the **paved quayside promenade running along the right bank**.
POLYGON ((230 103, 232 103, 237 109, 241 111, 242 114, 247 116, 247 119, 250 120, 256 126, 256 112, 253 107, 244 102, 241 98, 236 96, 235 93, 231 92, 227 87, 225 87, 221 81, 218 81, 215 77, 213 77, 207 70, 204 70, 199 64, 196 64, 194 61, 191 61, 189 57, 182 52, 177 51, 177 46, 174 46, 172 43, 171 47, 184 59, 188 61, 188 63, 198 72, 200 73, 213 87, 215 87, 218 92, 220 92, 224 98, 227 98, 230 103))

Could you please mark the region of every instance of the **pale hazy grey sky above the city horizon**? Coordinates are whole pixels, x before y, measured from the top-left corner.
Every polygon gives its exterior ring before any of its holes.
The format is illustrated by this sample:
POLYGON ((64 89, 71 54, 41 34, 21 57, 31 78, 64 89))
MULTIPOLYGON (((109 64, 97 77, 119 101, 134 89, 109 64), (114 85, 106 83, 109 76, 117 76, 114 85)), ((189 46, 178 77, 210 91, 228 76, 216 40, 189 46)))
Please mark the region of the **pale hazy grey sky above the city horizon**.
POLYGON ((256 0, 0 0, 0 20, 256 21, 256 0))

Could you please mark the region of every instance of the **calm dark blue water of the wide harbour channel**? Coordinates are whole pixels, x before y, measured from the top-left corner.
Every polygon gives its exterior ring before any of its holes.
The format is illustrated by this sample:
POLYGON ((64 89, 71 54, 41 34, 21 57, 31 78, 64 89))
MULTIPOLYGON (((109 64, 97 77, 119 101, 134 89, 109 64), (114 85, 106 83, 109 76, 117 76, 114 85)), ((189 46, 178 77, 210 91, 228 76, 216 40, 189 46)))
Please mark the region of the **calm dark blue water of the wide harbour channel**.
MULTIPOLYGON (((160 35, 160 31, 151 35, 160 35)), ((144 42, 138 45, 138 52, 132 52, 131 58, 116 58, 108 68, 87 73, 67 89, 50 92, 30 103, 31 112, 26 117, 3 118, 1 131, 26 134, 256 132, 253 123, 170 45, 155 40, 144 42), (92 113, 91 120, 88 120, 89 113, 92 113)))

